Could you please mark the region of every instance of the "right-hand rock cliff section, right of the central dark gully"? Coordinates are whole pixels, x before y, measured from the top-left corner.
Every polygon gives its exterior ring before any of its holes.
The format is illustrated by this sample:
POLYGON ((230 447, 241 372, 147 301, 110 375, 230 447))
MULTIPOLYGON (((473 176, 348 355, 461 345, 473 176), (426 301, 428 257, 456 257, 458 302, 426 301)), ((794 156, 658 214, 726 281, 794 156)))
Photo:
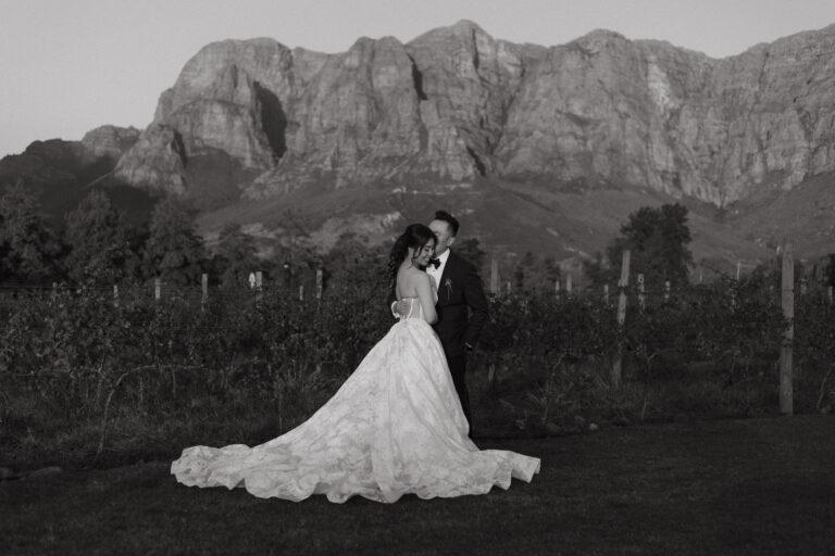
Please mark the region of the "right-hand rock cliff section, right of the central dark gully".
POLYGON ((500 172, 601 177, 720 206, 788 189, 835 164, 834 55, 835 27, 725 60, 591 33, 525 79, 500 172))

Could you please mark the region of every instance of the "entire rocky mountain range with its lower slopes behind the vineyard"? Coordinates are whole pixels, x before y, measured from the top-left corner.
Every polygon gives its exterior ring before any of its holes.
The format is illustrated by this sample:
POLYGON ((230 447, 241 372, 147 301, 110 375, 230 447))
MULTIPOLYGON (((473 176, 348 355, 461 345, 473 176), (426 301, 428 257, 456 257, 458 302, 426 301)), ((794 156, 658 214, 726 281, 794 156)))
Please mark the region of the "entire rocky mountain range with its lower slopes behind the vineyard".
POLYGON ((110 161, 100 184, 180 195, 207 237, 235 222, 267 249, 345 231, 382 243, 443 206, 496 256, 582 258, 630 211, 676 200, 697 257, 762 260, 787 235, 822 254, 835 25, 721 60, 608 30, 515 45, 468 21, 336 54, 224 40, 186 63, 145 130, 74 144, 110 161))

